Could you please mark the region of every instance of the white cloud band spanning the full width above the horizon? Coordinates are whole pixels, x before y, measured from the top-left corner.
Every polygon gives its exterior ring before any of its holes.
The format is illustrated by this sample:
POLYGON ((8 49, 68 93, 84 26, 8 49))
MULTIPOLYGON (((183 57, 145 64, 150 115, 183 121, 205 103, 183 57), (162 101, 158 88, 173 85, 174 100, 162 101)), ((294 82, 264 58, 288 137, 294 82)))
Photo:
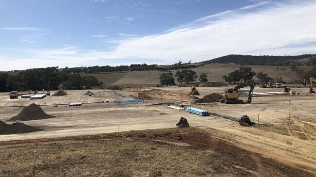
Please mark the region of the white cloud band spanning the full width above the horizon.
POLYGON ((0 56, 0 70, 93 65, 100 60, 111 64, 127 64, 126 59, 161 60, 159 64, 179 59, 199 62, 228 54, 258 55, 260 51, 264 55, 316 53, 316 3, 295 2, 271 3, 259 9, 253 6, 256 10, 252 12, 250 7, 226 11, 145 37, 119 33, 127 39, 113 40, 116 47, 108 51, 82 51, 75 46, 21 51, 20 57, 0 56))

